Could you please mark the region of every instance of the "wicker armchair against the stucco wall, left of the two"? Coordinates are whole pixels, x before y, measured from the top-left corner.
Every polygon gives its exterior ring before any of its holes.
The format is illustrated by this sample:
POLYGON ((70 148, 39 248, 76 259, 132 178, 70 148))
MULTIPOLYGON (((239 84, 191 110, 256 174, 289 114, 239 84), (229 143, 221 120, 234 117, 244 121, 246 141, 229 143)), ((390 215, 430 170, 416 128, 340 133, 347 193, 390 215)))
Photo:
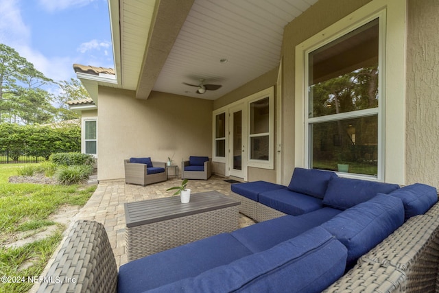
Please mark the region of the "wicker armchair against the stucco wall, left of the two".
POLYGON ((125 183, 127 184, 138 184, 138 185, 148 185, 151 183, 157 183, 167 180, 167 167, 164 162, 151 162, 153 168, 163 168, 161 172, 148 174, 147 167, 145 163, 130 163, 130 160, 124 160, 125 165, 125 183))

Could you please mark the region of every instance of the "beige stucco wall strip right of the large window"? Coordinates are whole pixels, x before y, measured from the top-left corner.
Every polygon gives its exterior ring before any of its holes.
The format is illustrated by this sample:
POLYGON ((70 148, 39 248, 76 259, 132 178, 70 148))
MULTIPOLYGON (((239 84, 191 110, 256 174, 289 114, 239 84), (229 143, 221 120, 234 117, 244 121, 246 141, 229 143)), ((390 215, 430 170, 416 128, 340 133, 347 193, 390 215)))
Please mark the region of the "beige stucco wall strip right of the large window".
POLYGON ((406 183, 439 187, 439 1, 407 4, 406 183))

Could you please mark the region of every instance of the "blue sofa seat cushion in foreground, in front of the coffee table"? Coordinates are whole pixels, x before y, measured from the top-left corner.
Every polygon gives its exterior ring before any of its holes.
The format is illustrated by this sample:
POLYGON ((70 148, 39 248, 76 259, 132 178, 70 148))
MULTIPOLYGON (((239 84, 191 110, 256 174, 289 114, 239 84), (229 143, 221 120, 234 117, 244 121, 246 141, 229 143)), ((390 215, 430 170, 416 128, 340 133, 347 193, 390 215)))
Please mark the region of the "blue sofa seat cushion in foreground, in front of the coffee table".
POLYGON ((144 292, 251 254, 232 235, 218 234, 124 264, 119 268, 117 292, 144 292))

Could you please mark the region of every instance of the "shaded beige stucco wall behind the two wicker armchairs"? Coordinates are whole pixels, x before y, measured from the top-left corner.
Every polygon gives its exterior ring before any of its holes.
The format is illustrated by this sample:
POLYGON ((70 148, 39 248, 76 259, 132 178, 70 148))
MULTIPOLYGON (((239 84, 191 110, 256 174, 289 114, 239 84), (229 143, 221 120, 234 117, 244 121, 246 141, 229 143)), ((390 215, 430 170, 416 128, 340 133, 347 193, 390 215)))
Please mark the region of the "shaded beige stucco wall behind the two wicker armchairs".
POLYGON ((98 180, 124 178, 123 159, 150 156, 181 165, 189 155, 211 156, 212 106, 206 99, 99 87, 98 180))

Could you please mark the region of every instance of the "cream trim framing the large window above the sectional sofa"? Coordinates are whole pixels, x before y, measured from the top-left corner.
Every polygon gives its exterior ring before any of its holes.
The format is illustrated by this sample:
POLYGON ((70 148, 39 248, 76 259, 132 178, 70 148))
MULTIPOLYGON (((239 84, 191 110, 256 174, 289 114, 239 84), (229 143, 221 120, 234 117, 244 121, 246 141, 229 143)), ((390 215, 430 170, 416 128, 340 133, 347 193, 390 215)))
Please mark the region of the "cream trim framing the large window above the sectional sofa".
MULTIPOLYGON (((385 15, 385 25, 380 25, 380 39, 385 36, 385 44, 380 44, 380 58, 385 56, 385 69, 380 69, 385 88, 381 88, 381 95, 385 100, 380 105, 382 115, 379 115, 379 138, 381 153, 379 152, 379 178, 376 180, 404 183, 405 168, 405 16, 406 7, 398 0, 374 0, 359 8, 355 12, 337 21, 296 46, 296 99, 295 99, 295 166, 307 167, 307 100, 306 52, 327 41, 338 38, 351 31, 351 27, 358 27, 359 23, 366 23, 379 16, 385 15), (378 13, 377 13, 378 12, 378 13), (384 28, 385 27, 385 28, 384 28), (390 32, 390 33, 389 33, 390 32), (386 110, 387 109, 387 110, 386 110), (385 113, 385 119, 384 119, 385 113), (384 124, 384 121, 392 123, 384 124), (383 136, 385 133, 385 137, 383 136), (384 148, 385 145, 385 148, 384 148)), ((383 64, 383 60, 379 60, 383 64)), ((383 85, 381 82, 380 86, 383 85)), ((364 176, 361 176, 364 178, 364 176)))

